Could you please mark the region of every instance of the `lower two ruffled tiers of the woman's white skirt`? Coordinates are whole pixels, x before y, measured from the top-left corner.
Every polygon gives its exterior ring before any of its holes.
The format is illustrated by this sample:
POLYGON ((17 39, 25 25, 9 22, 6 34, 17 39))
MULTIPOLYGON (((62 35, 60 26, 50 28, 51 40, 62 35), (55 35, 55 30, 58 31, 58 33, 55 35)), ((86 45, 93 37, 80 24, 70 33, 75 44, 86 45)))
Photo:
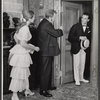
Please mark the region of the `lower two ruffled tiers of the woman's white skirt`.
POLYGON ((9 90, 12 90, 13 92, 21 92, 26 89, 26 87, 29 86, 29 83, 26 83, 29 75, 29 68, 13 67, 10 74, 12 80, 9 86, 9 90))

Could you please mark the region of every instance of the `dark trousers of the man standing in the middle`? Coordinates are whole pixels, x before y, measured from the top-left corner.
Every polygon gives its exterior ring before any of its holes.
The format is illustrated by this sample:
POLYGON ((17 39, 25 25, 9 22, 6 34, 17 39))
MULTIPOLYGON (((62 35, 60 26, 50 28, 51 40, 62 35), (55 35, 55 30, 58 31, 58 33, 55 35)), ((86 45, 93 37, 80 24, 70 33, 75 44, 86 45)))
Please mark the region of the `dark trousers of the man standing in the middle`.
POLYGON ((40 91, 47 91, 52 82, 53 56, 41 56, 40 91))

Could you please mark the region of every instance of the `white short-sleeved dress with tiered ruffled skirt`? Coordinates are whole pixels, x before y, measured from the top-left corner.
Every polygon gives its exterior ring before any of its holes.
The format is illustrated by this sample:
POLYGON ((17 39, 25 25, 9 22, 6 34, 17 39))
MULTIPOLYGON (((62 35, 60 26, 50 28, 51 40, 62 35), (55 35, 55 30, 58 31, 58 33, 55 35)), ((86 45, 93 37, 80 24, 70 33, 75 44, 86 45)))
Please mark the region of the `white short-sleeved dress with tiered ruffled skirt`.
MULTIPOLYGON (((15 37, 19 41, 25 40, 26 42, 32 38, 29 28, 26 25, 17 34, 15 33, 15 37)), ((30 50, 25 49, 18 43, 10 49, 10 53, 13 54, 9 62, 9 65, 13 66, 10 73, 12 79, 9 90, 11 91, 18 92, 26 88, 26 80, 30 75, 29 67, 33 63, 29 52, 30 50)))

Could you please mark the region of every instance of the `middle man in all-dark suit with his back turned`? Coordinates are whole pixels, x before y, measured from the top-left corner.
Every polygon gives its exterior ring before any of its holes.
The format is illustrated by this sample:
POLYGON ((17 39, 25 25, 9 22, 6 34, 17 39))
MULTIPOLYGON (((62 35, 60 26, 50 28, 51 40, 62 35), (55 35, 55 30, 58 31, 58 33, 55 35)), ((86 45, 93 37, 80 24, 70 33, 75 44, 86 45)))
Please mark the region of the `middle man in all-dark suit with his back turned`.
POLYGON ((38 30, 38 46, 40 47, 40 95, 52 97, 48 90, 56 89, 51 86, 52 62, 54 56, 60 54, 57 38, 63 35, 61 29, 55 29, 53 22, 56 12, 48 10, 45 18, 40 22, 38 30))

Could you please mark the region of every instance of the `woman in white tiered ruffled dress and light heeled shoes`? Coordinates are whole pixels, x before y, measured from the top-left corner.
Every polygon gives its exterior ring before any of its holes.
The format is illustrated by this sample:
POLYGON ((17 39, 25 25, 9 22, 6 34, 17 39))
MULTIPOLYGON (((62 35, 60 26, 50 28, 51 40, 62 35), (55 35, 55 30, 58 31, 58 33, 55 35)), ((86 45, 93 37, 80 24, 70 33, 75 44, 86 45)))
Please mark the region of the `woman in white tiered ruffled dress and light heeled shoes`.
POLYGON ((32 11, 24 11, 23 17, 26 19, 26 24, 15 33, 14 39, 16 45, 10 49, 9 65, 13 66, 10 77, 11 83, 9 90, 13 91, 12 100, 19 100, 17 92, 25 90, 25 96, 33 95, 29 89, 30 64, 32 64, 30 53, 39 51, 39 47, 29 44, 28 41, 32 38, 29 31, 29 24, 34 22, 35 15, 32 11))

